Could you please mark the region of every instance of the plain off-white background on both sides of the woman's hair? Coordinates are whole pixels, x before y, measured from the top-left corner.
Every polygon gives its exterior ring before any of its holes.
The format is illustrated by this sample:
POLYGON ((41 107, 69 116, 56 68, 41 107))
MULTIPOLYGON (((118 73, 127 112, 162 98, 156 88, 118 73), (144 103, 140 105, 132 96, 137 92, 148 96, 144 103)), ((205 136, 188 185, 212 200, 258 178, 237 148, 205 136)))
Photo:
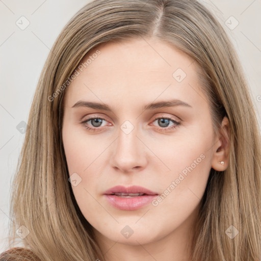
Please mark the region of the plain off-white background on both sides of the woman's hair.
MULTIPOLYGON (((12 222, 9 219, 10 187, 24 139, 16 126, 28 121, 37 81, 55 39, 74 13, 88 2, 0 0, 0 252, 9 247, 5 238, 8 222, 12 222), (24 30, 16 25, 21 16, 30 21, 24 30)), ((238 51, 260 124, 261 1, 204 0, 203 3, 218 17, 238 51), (233 30, 225 24, 230 16, 239 22, 233 30)))

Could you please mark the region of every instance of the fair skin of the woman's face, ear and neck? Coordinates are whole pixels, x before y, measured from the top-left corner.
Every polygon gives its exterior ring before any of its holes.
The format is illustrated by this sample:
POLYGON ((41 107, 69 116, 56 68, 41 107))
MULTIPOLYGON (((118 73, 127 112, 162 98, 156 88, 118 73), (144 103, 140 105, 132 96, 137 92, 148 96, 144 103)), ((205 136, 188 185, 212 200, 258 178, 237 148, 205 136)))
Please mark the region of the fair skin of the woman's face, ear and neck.
MULTIPOLYGON (((82 178, 72 186, 77 204, 93 226, 106 261, 191 260, 189 234, 210 170, 228 166, 228 143, 214 134, 196 65, 172 45, 153 38, 110 42, 98 49, 100 55, 73 80, 64 97, 62 138, 69 175, 76 172, 82 178), (181 82, 173 77, 178 68, 187 74, 181 82), (149 103, 172 99, 190 107, 143 110, 149 103), (79 100, 106 104, 112 112, 73 107, 79 100), (97 117, 105 120, 94 125, 90 118, 97 117), (162 118, 180 124, 161 123, 162 118), (126 120, 134 126, 129 134, 121 129, 126 120), (177 183, 189 166, 192 171, 177 183), (103 195, 116 185, 142 186, 158 194, 169 188, 169 193, 156 206, 118 210, 103 195), (129 238, 121 233, 125 226, 133 230, 129 238)), ((228 126, 225 117, 223 128, 228 126)))

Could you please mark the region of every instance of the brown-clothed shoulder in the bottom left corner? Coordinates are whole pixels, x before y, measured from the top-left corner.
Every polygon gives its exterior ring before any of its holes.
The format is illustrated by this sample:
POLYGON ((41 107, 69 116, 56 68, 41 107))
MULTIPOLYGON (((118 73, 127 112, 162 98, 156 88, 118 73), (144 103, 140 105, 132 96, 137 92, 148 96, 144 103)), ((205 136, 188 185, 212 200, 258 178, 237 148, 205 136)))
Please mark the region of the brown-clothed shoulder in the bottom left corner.
POLYGON ((0 261, 40 261, 30 250, 22 247, 14 247, 0 254, 0 261))

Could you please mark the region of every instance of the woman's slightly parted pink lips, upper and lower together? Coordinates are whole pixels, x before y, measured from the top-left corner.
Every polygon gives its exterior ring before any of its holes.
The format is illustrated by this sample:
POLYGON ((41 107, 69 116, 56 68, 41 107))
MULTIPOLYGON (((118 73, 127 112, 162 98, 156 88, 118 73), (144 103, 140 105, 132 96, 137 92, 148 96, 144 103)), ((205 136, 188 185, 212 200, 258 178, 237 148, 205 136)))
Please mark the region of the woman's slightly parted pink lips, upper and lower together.
POLYGON ((140 186, 131 186, 127 188, 116 186, 107 190, 104 195, 112 206, 120 210, 134 211, 150 203, 159 194, 140 186), (144 193, 145 195, 125 198, 113 195, 113 193, 144 193))

